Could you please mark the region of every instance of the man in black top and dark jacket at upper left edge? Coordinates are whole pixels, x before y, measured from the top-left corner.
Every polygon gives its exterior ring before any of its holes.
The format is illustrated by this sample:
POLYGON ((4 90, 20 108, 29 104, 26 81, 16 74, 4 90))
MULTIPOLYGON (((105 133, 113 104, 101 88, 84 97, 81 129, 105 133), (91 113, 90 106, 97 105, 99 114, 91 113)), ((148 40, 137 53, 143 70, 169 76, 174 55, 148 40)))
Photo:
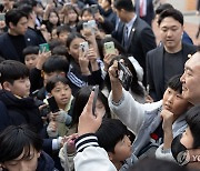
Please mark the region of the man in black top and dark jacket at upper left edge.
POLYGON ((6 13, 8 32, 0 36, 0 56, 4 59, 23 62, 22 50, 27 47, 24 33, 28 29, 28 17, 18 9, 6 13))

